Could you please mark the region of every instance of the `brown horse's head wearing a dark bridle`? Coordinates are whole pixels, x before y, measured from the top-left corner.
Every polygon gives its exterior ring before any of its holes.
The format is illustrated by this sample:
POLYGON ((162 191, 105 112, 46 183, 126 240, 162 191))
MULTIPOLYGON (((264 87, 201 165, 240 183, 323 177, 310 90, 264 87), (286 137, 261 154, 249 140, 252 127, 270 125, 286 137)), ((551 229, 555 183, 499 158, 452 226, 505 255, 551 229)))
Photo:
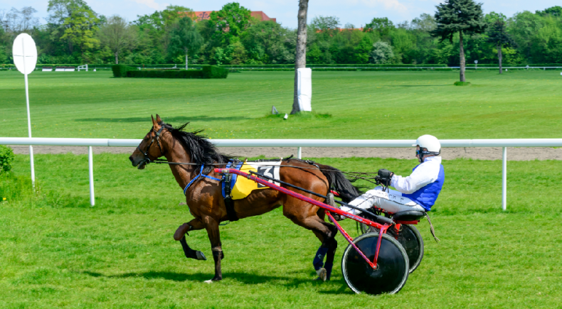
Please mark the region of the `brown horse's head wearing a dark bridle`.
POLYGON ((139 170, 142 170, 144 166, 152 161, 164 156, 164 149, 161 146, 160 136, 162 135, 164 129, 164 122, 160 119, 158 114, 156 115, 156 120, 152 117, 152 129, 148 132, 144 139, 142 139, 137 149, 135 149, 129 160, 133 166, 137 166, 139 170))

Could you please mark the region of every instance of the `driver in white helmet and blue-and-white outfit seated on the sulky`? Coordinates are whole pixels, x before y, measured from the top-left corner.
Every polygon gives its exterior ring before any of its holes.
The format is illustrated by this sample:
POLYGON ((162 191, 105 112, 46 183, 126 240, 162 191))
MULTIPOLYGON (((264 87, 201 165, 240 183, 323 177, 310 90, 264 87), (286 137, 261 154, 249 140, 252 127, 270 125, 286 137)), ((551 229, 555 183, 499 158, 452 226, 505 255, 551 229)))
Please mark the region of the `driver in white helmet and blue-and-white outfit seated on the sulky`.
MULTIPOLYGON (((435 136, 423 135, 412 146, 416 146, 415 157, 420 164, 413 168, 408 177, 395 175, 390 170, 378 170, 376 179, 386 187, 392 186, 396 190, 388 189, 387 192, 384 187, 378 186, 352 200, 349 205, 364 210, 376 206, 390 213, 404 210, 430 211, 445 181, 445 171, 439 156, 441 143, 435 136)), ((346 206, 341 206, 340 209, 354 215, 361 213, 346 206)))

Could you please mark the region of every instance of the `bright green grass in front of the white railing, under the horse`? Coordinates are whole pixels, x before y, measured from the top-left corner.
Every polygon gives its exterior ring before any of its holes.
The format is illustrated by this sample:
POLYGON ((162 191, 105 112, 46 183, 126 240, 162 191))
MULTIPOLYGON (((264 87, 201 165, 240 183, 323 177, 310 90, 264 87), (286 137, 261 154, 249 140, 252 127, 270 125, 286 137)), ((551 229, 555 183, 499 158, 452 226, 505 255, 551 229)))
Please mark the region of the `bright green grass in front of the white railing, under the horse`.
MULTIPOLYGON (((95 207, 88 158, 37 155, 43 197, 0 202, 2 308, 556 308, 561 303, 562 162, 509 162, 508 211, 501 209, 501 161, 445 161, 447 179, 432 211, 438 237, 418 227, 425 257, 394 296, 355 295, 339 264, 313 282, 319 244, 280 209, 221 227, 224 280, 212 261, 186 260, 172 234, 191 219, 165 166, 136 170, 128 155, 95 155, 95 207)), ((343 170, 415 161, 318 158, 343 170)), ((28 156, 16 156, 16 175, 28 156)), ((21 176, 23 177, 23 176, 21 176)), ((3 183, 3 185, 5 185, 3 183)), ((354 222, 344 227, 356 235, 354 222)), ((338 236, 339 263, 346 242, 338 236)), ((189 244, 211 256, 203 231, 189 244)))

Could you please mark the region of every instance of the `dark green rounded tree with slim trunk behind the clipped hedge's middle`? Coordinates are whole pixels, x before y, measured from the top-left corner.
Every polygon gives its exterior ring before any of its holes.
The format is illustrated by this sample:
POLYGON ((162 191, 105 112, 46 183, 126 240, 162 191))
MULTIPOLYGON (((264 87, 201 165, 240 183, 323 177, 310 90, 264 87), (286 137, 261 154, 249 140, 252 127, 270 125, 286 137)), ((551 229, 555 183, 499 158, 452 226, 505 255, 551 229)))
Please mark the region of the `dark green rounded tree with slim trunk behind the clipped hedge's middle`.
POLYGON ((181 52, 186 55, 186 70, 188 67, 188 55, 193 55, 201 48, 202 44, 203 38, 197 32, 191 18, 180 18, 176 21, 174 27, 171 28, 169 50, 172 54, 181 52))

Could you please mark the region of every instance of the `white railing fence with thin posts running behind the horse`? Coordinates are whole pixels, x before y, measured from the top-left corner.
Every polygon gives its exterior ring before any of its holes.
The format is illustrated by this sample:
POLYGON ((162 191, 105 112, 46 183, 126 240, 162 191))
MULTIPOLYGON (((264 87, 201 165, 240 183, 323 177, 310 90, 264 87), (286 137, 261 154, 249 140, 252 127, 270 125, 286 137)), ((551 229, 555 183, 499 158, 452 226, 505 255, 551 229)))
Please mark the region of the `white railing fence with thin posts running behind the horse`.
MULTIPOLYGON (((58 139, 0 137, 0 145, 29 146, 87 146, 88 164, 90 166, 90 205, 95 205, 94 198, 94 164, 92 146, 136 147, 140 139, 58 139)), ((302 147, 396 147, 410 148, 415 140, 383 139, 211 139, 218 147, 296 147, 301 158, 302 147)), ((562 147, 562 139, 444 139, 441 146, 450 147, 502 147, 502 210, 507 209, 507 147, 562 147)))

